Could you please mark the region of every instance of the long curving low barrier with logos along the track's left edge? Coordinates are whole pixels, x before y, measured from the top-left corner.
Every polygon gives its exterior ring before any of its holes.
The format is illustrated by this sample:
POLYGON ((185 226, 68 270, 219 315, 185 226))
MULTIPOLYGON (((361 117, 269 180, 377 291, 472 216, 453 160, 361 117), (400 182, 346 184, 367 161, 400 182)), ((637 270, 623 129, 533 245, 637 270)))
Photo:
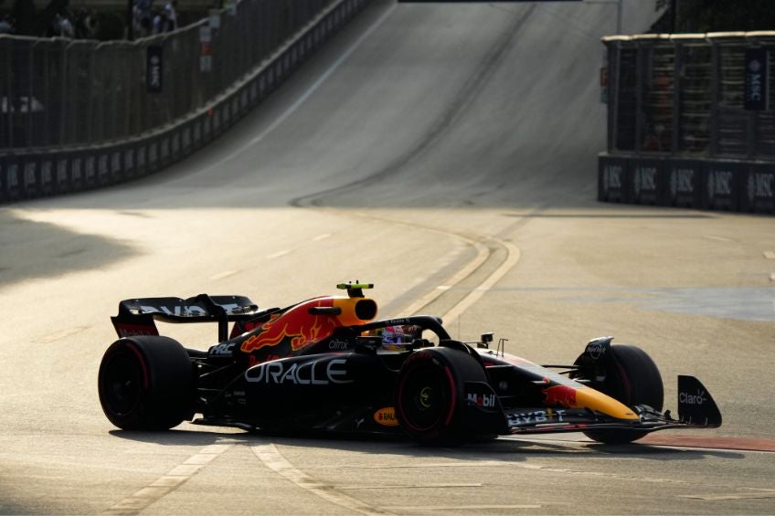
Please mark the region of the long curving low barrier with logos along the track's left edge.
POLYGON ((259 105, 369 2, 334 2, 227 93, 175 124, 120 142, 0 152, 0 203, 118 184, 185 159, 259 105))

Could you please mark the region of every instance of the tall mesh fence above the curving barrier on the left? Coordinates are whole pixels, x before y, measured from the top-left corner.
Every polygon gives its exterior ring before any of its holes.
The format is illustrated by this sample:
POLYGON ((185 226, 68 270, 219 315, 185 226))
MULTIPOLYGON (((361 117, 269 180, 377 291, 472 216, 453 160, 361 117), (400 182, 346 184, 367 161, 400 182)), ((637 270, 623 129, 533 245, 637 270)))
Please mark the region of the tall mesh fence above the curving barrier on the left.
POLYGON ((242 0, 137 41, 0 36, 0 150, 112 142, 201 109, 334 0, 242 0), (149 88, 149 48, 161 56, 149 88))

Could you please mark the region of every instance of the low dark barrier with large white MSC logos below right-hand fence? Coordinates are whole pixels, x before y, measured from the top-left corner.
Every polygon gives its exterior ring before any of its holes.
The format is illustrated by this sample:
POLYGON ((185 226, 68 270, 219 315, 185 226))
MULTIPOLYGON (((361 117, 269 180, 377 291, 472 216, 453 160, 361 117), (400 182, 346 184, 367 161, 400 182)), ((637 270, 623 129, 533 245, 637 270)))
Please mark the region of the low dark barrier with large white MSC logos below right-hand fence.
POLYGON ((775 214, 775 163, 602 153, 598 199, 775 214))

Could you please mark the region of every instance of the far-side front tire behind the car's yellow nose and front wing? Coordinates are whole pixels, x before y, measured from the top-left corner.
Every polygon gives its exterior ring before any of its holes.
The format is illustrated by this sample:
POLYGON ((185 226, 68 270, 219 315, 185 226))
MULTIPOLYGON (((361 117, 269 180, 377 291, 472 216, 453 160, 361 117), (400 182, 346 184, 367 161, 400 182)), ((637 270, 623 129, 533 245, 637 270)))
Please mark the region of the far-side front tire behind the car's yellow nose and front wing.
MULTIPOLYGON (((631 345, 610 347, 611 360, 600 391, 627 406, 649 405, 661 411, 664 405, 662 375, 652 358, 641 348, 631 345)), ((648 432, 640 430, 590 430, 584 434, 595 441, 609 444, 631 443, 648 432)))

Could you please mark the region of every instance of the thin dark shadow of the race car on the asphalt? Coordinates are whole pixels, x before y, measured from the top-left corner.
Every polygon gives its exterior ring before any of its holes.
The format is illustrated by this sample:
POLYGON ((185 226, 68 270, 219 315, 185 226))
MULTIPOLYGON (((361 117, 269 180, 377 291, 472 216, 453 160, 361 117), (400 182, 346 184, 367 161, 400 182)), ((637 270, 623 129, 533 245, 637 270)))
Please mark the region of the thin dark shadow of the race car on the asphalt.
POLYGON ((278 435, 262 431, 240 430, 189 430, 174 429, 162 432, 111 430, 111 436, 123 439, 154 443, 162 446, 210 446, 235 444, 260 446, 274 444, 291 448, 320 448, 373 454, 384 457, 407 456, 411 458, 435 458, 454 460, 493 460, 518 462, 529 458, 579 457, 579 458, 638 458, 645 460, 702 460, 709 457, 741 459, 745 455, 738 451, 702 448, 675 448, 633 443, 629 445, 607 445, 583 440, 531 440, 501 437, 460 446, 423 446, 409 437, 388 435, 343 436, 331 434, 299 433, 278 435))

